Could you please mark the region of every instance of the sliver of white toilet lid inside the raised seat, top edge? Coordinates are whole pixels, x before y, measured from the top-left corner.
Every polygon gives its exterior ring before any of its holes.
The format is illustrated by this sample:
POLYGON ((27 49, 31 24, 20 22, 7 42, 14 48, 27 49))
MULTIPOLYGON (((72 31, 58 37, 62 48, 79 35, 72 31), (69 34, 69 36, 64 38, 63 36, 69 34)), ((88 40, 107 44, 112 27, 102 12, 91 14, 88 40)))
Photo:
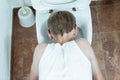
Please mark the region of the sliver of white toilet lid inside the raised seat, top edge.
POLYGON ((57 4, 66 4, 66 3, 72 3, 76 0, 44 0, 45 3, 48 3, 48 4, 54 4, 54 5, 57 5, 57 4))

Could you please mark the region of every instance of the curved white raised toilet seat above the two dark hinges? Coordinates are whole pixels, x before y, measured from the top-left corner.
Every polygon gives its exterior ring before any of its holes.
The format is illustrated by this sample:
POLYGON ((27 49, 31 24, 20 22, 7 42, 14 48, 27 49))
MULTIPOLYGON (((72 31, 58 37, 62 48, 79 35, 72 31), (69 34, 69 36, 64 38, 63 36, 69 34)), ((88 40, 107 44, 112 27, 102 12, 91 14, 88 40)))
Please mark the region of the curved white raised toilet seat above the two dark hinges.
POLYGON ((84 8, 86 6, 89 6, 91 0, 74 0, 68 3, 64 4, 49 4, 45 0, 32 0, 33 7, 36 10, 39 11, 45 11, 45 10, 50 10, 50 9, 56 9, 56 8, 69 8, 69 7, 78 7, 78 8, 84 8))

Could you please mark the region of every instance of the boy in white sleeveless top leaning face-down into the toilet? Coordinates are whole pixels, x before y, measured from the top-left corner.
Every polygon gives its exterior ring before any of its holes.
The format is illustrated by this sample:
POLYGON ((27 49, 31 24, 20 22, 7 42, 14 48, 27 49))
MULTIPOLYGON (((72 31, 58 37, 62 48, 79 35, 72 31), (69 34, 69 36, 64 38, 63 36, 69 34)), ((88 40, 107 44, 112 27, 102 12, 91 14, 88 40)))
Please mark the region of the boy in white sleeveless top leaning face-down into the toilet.
POLYGON ((48 19, 48 36, 54 43, 35 48, 30 80, 104 80, 95 54, 85 39, 75 39, 75 17, 58 11, 48 19))

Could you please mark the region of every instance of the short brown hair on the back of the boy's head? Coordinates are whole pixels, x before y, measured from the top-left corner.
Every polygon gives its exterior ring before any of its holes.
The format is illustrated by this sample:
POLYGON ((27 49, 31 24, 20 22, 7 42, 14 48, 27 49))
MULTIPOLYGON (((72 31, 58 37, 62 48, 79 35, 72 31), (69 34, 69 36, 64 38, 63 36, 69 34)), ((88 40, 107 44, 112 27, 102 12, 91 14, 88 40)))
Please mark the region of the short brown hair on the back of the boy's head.
POLYGON ((69 33, 73 27, 76 27, 76 20, 72 13, 68 11, 58 11, 50 15, 48 19, 48 29, 54 34, 69 33))

